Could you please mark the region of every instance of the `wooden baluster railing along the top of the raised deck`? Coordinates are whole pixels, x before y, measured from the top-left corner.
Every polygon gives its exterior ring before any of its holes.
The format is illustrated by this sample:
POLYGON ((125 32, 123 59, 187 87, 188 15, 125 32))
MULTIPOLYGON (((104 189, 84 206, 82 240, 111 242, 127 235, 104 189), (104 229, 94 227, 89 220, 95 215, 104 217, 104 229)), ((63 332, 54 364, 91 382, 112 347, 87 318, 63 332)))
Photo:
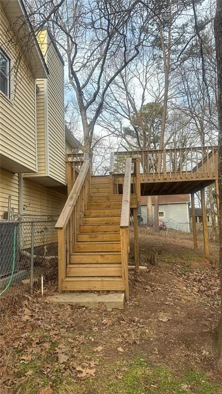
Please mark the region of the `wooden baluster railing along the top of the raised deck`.
POLYGON ((217 146, 115 152, 111 155, 110 174, 123 174, 126 158, 131 157, 139 159, 140 174, 147 174, 149 180, 156 179, 156 174, 159 179, 160 176, 163 179, 182 178, 184 174, 192 177, 194 173, 197 177, 215 176, 218 172, 217 153, 217 146))

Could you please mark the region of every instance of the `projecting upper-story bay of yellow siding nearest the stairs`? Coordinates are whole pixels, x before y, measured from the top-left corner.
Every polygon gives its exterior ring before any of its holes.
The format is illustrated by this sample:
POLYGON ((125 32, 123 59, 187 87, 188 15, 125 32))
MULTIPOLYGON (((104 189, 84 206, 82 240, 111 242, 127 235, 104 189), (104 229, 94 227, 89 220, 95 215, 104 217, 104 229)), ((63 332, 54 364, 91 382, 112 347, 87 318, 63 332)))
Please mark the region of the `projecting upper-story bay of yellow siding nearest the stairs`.
MULTIPOLYGON (((47 30, 39 32, 37 38, 49 76, 47 80, 36 80, 39 88, 36 94, 38 173, 25 177, 32 180, 49 177, 65 184, 64 66, 47 30)), ((44 182, 46 186, 51 185, 44 182)))

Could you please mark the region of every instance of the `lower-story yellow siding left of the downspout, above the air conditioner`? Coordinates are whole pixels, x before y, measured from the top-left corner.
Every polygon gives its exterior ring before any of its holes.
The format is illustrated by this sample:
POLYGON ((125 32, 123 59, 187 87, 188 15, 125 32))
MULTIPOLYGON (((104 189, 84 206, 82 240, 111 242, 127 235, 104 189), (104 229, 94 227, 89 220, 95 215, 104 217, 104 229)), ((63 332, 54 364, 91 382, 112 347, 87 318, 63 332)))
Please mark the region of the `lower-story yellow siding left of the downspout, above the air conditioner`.
POLYGON ((8 211, 8 196, 11 196, 11 207, 18 213, 18 175, 0 168, 0 218, 8 211))

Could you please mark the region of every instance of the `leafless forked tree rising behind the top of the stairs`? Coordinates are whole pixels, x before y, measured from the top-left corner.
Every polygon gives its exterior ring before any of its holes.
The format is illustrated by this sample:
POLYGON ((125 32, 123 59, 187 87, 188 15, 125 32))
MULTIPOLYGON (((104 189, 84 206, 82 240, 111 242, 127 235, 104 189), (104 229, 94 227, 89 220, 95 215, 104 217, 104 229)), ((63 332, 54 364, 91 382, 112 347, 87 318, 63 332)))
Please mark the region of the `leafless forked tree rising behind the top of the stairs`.
POLYGON ((152 11, 138 0, 65 0, 56 8, 53 1, 27 3, 35 28, 46 24, 66 59, 89 152, 107 90, 138 56, 152 11))

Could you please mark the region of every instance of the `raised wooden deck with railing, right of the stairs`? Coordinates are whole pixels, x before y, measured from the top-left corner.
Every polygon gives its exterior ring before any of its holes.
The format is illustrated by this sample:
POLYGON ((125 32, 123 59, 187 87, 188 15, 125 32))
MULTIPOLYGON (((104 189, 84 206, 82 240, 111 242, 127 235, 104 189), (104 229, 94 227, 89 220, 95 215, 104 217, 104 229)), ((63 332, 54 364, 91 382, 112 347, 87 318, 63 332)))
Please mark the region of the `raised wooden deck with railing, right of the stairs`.
POLYGON ((124 179, 124 173, 119 172, 124 172, 127 157, 140 161, 140 185, 143 196, 196 193, 218 180, 216 146, 116 152, 113 154, 110 173, 119 193, 122 193, 124 179))

